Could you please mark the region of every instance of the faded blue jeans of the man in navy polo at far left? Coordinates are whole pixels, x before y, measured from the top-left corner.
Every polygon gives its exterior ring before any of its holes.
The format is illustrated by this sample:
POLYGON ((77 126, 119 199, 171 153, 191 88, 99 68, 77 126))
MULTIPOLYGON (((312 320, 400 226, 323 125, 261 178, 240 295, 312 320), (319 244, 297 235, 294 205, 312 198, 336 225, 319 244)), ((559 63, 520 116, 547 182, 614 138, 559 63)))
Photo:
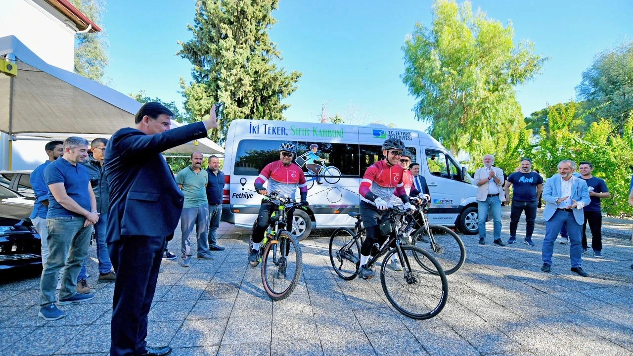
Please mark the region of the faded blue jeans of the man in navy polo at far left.
POLYGON ((56 217, 46 219, 48 230, 48 259, 40 280, 40 307, 44 308, 55 302, 57 276, 63 271, 63 284, 60 300, 70 298, 77 291, 77 275, 82 261, 88 255, 91 226, 84 227, 84 217, 56 217))

